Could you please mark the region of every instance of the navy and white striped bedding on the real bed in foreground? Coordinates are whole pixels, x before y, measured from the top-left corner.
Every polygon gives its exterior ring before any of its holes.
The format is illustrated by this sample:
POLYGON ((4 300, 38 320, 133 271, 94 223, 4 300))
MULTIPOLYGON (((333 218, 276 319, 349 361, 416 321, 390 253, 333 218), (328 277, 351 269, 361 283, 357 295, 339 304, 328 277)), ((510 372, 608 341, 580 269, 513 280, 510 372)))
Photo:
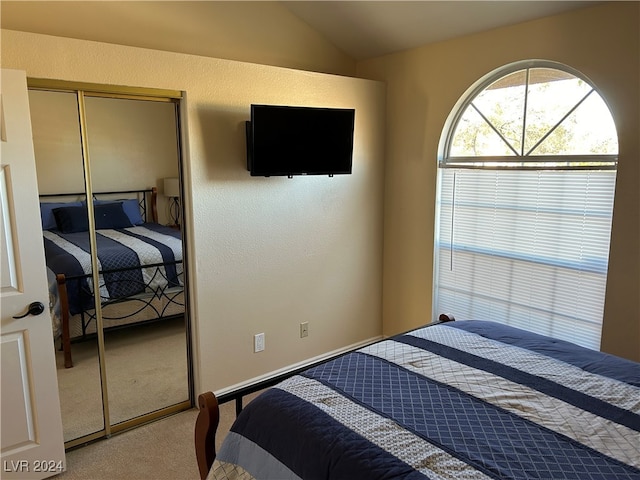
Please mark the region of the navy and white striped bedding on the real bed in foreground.
POLYGON ((209 479, 640 479, 640 364, 494 322, 432 325, 265 391, 209 479))

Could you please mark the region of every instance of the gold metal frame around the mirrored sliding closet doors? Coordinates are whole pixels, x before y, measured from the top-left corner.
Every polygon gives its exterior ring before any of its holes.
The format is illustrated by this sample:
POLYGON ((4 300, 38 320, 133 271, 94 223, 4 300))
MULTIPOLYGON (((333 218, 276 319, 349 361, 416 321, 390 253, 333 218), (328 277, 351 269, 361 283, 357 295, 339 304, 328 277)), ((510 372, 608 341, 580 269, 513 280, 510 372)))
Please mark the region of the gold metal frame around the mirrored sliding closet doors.
MULTIPOLYGON (((86 105, 85 99, 87 97, 102 97, 102 98, 114 98, 123 100, 143 100, 143 101, 156 101, 156 102, 170 102, 175 105, 175 122, 176 122, 176 149, 179 155, 178 161, 178 178, 181 185, 181 192, 184 192, 182 188, 183 184, 183 171, 184 171, 184 158, 185 150, 183 144, 183 127, 182 127, 182 108, 184 108, 184 96, 183 92, 178 90, 165 90, 154 89, 145 87, 130 87, 119 85, 102 85, 86 82, 69 82, 64 80, 51 80, 51 79, 39 79, 39 78, 27 78, 27 86, 30 90, 47 90, 55 92, 66 92, 76 95, 78 103, 78 122, 80 127, 81 148, 82 148, 82 164, 84 170, 84 182, 85 182, 85 195, 87 198, 93 198, 92 187, 92 175, 91 175, 91 161, 90 161, 90 146, 87 137, 87 121, 86 121, 86 105)), ((182 199, 184 199, 184 193, 182 199)), ((180 202, 180 218, 185 218, 184 201, 180 202)), ((92 268, 92 282, 93 291, 100 291, 99 280, 99 266, 97 260, 97 245, 96 245, 96 230, 95 230, 95 218, 93 202, 87 202, 87 214, 89 216, 89 241, 91 246, 91 268, 92 268)), ((184 222, 184 220, 183 220, 184 222)), ((83 435, 77 439, 72 439, 65 442, 65 448, 70 449, 88 441, 96 440, 99 438, 109 437, 113 433, 117 433, 124 430, 129 430, 135 426, 148 423, 158 418, 171 415, 183 410, 187 410, 194 406, 194 377, 193 377, 193 355, 192 355, 192 339, 191 339, 191 320, 190 320, 190 295, 189 295, 189 259, 188 248, 186 248, 185 242, 186 232, 182 229, 182 244, 183 244, 183 268, 186 272, 184 275, 184 298, 185 298, 185 335, 187 338, 186 355, 187 355, 187 387, 188 387, 188 400, 156 410, 154 412, 146 413, 141 416, 125 420, 118 424, 112 425, 109 414, 109 395, 108 395, 108 381, 107 381, 107 368, 105 362, 105 342, 104 342, 104 330, 103 330, 103 318, 102 308, 99 297, 94 296, 94 307, 96 312, 96 335, 98 340, 98 357, 100 366, 100 383, 102 388, 102 407, 103 407, 103 420, 104 428, 102 430, 92 432, 87 435, 83 435)))

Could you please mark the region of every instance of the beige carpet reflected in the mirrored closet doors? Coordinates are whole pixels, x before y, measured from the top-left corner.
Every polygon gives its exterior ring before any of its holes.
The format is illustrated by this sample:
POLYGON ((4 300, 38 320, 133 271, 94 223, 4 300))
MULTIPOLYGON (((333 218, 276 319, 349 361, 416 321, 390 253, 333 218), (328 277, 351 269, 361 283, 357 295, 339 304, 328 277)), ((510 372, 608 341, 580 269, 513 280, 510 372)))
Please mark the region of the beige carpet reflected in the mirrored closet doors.
MULTIPOLYGON (((96 339, 74 343, 73 368, 56 351, 64 440, 102 430, 96 339)), ((189 399, 182 318, 105 332, 111 424, 189 399)))

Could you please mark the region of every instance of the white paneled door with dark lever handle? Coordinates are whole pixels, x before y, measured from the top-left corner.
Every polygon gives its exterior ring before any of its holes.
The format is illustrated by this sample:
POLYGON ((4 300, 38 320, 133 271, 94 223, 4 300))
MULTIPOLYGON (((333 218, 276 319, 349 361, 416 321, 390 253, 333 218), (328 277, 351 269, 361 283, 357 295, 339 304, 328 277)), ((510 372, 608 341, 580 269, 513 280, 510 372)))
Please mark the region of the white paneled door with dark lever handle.
POLYGON ((62 419, 26 76, 1 75, 0 476, 40 479, 65 467, 62 419), (34 302, 44 305, 41 314, 14 318, 34 302))

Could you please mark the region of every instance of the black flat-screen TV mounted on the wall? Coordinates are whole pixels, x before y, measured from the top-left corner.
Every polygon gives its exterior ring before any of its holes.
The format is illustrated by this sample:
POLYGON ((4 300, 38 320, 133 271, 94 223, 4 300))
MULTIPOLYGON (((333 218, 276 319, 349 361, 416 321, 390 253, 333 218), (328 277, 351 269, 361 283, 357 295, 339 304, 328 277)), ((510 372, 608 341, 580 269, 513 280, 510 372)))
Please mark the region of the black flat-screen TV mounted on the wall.
POLYGON ((251 105, 247 169, 252 176, 351 173, 355 110, 251 105))

